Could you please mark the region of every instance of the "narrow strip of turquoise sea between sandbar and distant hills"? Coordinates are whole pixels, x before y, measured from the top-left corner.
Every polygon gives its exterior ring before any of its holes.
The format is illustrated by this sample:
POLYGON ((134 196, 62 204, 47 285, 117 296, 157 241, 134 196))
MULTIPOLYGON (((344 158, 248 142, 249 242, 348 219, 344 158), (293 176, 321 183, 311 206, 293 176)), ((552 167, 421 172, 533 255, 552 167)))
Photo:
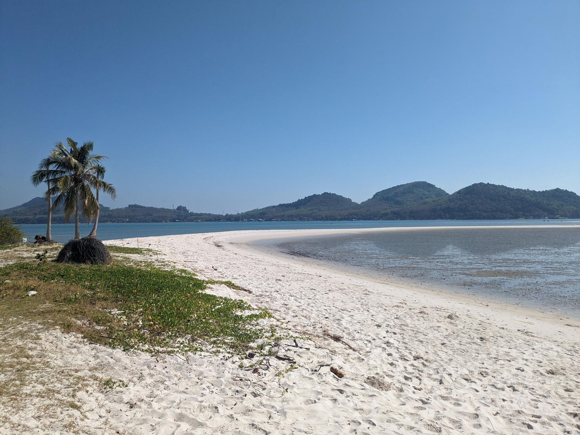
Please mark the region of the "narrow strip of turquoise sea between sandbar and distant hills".
MULTIPOLYGON (((430 227, 430 226, 477 226, 477 225, 542 225, 580 224, 580 219, 543 221, 541 219, 513 220, 356 220, 356 221, 310 221, 310 222, 171 222, 171 223, 101 223, 97 230, 100 240, 149 237, 153 235, 216 233, 239 230, 300 230, 324 228, 383 228, 383 227, 430 227)), ((81 237, 88 235, 92 224, 81 224, 81 237)), ((28 240, 35 235, 46 234, 46 224, 23 224, 28 240)), ((66 242, 74 237, 74 224, 53 224, 52 238, 66 242)))

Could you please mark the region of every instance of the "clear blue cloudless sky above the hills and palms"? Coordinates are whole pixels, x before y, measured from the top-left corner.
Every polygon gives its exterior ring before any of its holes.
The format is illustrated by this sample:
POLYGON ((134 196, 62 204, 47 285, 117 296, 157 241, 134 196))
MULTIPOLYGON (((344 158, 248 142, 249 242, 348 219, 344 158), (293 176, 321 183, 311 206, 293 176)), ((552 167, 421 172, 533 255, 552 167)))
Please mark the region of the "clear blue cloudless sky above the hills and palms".
POLYGON ((0 209, 67 136, 115 203, 580 193, 580 2, 0 0, 0 209))

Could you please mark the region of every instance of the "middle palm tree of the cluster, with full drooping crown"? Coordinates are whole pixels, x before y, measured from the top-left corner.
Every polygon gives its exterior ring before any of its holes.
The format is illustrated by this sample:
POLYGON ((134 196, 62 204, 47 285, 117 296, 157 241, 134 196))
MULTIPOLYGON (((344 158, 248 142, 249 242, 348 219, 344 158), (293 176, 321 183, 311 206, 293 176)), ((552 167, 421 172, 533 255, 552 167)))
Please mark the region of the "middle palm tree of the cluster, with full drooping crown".
MULTIPOLYGON (((116 197, 115 188, 102 180, 104 168, 100 161, 106 158, 104 155, 91 154, 95 144, 85 142, 78 146, 77 142, 67 137, 67 146, 61 142, 55 146, 52 157, 55 158, 54 166, 58 171, 63 171, 57 177, 54 193, 58 193, 52 209, 60 204, 64 205, 64 220, 68 221, 75 215, 75 238, 81 238, 79 231, 79 214, 93 218, 99 213, 99 203, 93 195, 91 188, 106 191, 116 197), (67 148, 68 147, 68 148, 67 148)), ((96 222, 95 222, 96 223, 96 222)), ((96 233, 96 227, 93 229, 96 233)))

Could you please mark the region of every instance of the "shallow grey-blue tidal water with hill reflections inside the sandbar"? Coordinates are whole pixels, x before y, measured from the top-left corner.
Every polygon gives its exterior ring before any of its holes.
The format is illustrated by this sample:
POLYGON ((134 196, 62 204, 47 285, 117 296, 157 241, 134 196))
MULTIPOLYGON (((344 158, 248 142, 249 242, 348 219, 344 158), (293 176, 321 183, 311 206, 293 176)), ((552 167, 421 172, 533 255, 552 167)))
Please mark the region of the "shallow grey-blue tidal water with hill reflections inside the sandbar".
POLYGON ((580 316, 580 229, 427 229, 278 242, 282 252, 415 285, 580 316))

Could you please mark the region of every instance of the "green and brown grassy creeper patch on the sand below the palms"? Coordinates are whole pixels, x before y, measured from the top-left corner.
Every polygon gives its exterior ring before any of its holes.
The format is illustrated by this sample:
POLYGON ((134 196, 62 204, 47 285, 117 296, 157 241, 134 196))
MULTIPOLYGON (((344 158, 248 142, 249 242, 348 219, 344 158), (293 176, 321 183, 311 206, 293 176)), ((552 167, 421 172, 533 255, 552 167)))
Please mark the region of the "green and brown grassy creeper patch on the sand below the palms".
POLYGON ((266 310, 205 293, 206 284, 155 267, 14 263, 0 267, 0 320, 56 324, 94 342, 151 353, 241 353, 256 340, 275 339, 274 328, 258 325, 271 317, 266 310))

